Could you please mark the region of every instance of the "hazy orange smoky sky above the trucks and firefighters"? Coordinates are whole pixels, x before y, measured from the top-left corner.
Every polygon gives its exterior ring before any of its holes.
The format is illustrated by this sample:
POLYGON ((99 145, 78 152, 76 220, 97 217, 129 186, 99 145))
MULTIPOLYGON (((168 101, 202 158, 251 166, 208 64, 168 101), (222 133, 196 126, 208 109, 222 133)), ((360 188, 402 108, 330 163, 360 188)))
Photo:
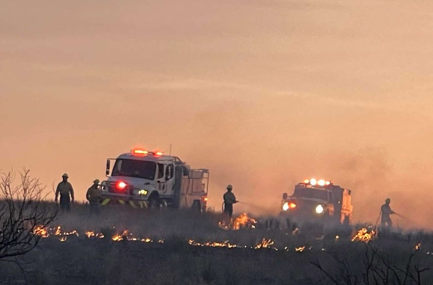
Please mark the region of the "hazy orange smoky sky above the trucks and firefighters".
MULTIPOLYGON (((433 228, 433 3, 6 1, 0 168, 77 200, 134 146, 211 171, 269 209, 316 177, 433 228)), ((238 211, 258 208, 238 205, 238 211)))

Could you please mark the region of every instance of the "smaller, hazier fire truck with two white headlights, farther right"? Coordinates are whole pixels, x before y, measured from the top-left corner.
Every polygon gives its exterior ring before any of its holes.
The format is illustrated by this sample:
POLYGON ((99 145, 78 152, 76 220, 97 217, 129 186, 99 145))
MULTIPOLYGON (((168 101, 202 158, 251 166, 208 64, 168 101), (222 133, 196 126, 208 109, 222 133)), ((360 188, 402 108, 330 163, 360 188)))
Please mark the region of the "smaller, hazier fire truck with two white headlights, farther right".
POLYGON ((295 185, 291 196, 283 194, 281 213, 294 220, 335 221, 350 224, 353 206, 351 190, 330 181, 305 180, 295 185))

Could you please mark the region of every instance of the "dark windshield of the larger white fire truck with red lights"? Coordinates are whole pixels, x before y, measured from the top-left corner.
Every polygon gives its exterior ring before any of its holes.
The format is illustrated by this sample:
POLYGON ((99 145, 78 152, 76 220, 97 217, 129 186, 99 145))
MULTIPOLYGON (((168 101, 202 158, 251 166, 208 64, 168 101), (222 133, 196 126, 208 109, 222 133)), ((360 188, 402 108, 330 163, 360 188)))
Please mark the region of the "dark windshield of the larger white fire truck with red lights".
POLYGON ((155 179, 156 163, 152 161, 117 159, 111 176, 128 176, 155 179))

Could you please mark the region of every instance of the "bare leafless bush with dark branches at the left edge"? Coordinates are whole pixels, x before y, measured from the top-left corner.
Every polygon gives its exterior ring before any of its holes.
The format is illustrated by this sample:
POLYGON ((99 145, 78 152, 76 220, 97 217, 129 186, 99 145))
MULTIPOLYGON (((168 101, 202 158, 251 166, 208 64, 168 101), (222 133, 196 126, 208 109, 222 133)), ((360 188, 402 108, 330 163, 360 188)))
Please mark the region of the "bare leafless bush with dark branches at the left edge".
POLYGON ((57 207, 44 203, 39 180, 24 169, 14 186, 15 173, 0 173, 0 260, 29 252, 41 238, 36 227, 46 227, 57 216, 57 207))

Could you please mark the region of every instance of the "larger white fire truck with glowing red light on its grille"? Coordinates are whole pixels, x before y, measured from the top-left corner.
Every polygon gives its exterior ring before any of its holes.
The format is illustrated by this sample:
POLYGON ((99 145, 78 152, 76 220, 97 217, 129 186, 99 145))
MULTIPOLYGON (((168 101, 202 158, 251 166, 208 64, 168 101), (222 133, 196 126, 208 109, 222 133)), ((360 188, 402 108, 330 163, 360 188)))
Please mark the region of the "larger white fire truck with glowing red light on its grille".
POLYGON ((101 183, 101 205, 206 211, 209 170, 191 169, 178 157, 133 149, 107 159, 106 176, 108 179, 101 183))

